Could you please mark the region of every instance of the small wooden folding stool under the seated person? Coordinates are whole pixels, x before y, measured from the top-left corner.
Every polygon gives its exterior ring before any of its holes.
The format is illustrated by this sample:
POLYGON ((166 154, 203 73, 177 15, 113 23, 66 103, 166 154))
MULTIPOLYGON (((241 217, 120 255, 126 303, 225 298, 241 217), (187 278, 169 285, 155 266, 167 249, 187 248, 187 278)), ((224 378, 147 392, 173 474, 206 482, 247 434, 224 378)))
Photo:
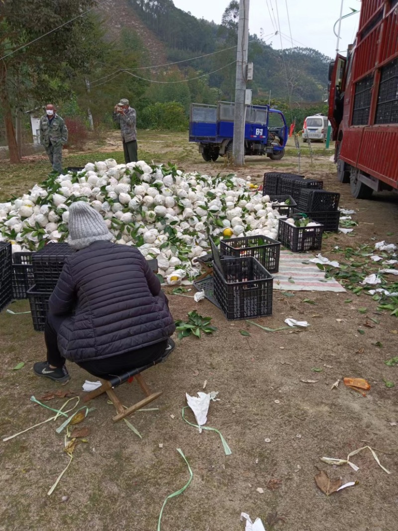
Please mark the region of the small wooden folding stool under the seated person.
POLYGON ((107 380, 103 380, 99 378, 102 385, 101 387, 98 387, 97 389, 94 389, 93 391, 90 391, 84 398, 83 402, 88 402, 89 400, 92 400, 93 398, 98 397, 99 395, 102 395, 103 393, 107 393, 109 399, 112 401, 113 405, 116 408, 117 415, 115 415, 112 420, 114 422, 121 421, 124 417, 127 417, 128 415, 131 415, 138 409, 141 409, 142 407, 146 406, 147 404, 150 404, 153 400, 160 397, 163 391, 158 391, 155 393, 151 393, 149 387, 146 385, 142 372, 144 372, 146 369, 149 369, 150 367, 153 367, 153 365, 157 365, 158 363, 164 362, 168 356, 170 355, 171 351, 174 349, 174 342, 171 342, 169 340, 169 344, 171 345, 171 348, 169 347, 163 355, 156 359, 154 362, 149 363, 148 365, 145 365, 143 367, 139 367, 138 369, 133 369, 131 371, 127 371, 123 374, 111 376, 111 378, 107 380), (119 398, 117 397, 114 388, 120 386, 124 382, 132 382, 133 379, 135 379, 141 389, 143 390, 144 394, 146 395, 146 398, 143 400, 140 400, 139 402, 136 402, 131 407, 128 407, 127 409, 123 406, 122 402, 120 402, 119 398))

